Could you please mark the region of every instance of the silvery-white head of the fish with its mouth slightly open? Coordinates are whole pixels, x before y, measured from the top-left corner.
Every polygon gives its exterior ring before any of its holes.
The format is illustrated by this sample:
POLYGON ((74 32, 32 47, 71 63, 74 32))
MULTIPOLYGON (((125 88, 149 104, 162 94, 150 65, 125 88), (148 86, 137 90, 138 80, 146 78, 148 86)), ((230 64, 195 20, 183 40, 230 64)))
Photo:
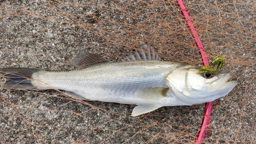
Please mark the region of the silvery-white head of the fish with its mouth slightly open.
POLYGON ((167 77, 167 86, 187 105, 202 104, 224 97, 237 84, 228 73, 197 74, 198 67, 174 69, 167 77))

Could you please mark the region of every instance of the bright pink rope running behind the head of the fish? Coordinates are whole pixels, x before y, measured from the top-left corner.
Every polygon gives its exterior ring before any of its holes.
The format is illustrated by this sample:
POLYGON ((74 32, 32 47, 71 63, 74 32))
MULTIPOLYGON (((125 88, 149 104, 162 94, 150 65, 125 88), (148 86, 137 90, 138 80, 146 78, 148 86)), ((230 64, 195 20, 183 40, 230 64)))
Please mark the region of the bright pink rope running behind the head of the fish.
MULTIPOLYGON (((182 0, 177 0, 178 5, 180 6, 180 10, 183 14, 183 16, 185 17, 185 20, 187 22, 188 28, 190 29, 191 34, 193 35, 194 39, 196 40, 196 44, 197 44, 197 48, 200 51, 201 57, 202 57, 202 64, 205 65, 209 65, 207 56, 206 56, 206 52, 204 50, 204 46, 197 34, 197 31, 195 29, 195 27, 193 26, 193 22, 187 12, 187 9, 185 8, 182 0)), ((200 131, 197 135, 197 140, 195 143, 202 143, 204 136, 205 136, 205 132, 207 130, 207 127, 210 123, 210 111, 211 111, 211 102, 206 103, 205 104, 205 110, 204 110, 204 118, 201 124, 201 128, 200 131)), ((209 132, 210 133, 210 132, 209 132)))

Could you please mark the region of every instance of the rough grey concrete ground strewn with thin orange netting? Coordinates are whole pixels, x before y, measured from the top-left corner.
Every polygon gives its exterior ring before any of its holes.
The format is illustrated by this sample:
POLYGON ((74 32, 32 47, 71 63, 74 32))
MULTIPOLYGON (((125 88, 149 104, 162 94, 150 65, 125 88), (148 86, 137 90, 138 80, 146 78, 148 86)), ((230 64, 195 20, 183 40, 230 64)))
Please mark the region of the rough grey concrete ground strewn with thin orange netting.
MULTIPOLYGON (((184 3, 208 58, 226 55, 223 69, 240 82, 214 102, 203 142, 255 143, 255 1, 184 3)), ((71 70, 83 51, 121 61, 146 41, 164 60, 201 66, 176 1, 0 1, 1 67, 71 70)), ((6 143, 194 143, 204 115, 204 104, 132 117, 134 105, 56 90, 0 92, 6 143)))

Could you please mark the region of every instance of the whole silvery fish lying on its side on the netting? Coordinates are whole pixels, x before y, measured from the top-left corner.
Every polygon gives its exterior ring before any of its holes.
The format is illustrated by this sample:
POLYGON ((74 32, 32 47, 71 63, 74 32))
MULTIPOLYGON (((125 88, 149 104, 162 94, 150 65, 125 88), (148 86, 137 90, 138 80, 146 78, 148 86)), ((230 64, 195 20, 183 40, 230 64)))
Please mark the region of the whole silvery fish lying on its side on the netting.
POLYGON ((238 81, 228 73, 197 74, 200 67, 163 61, 154 45, 142 45, 120 62, 83 52, 70 71, 0 68, 1 87, 20 90, 65 90, 79 100, 137 105, 131 116, 165 106, 211 102, 228 94, 238 81))

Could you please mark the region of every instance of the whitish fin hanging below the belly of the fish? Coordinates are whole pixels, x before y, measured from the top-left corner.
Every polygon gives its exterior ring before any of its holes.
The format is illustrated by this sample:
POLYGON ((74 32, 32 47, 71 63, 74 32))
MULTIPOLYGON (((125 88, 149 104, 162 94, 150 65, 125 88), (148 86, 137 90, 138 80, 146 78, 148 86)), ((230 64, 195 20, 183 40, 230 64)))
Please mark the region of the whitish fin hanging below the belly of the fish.
POLYGON ((143 113, 148 113, 148 112, 154 111, 154 110, 156 110, 160 107, 162 107, 162 106, 154 105, 154 104, 152 104, 152 105, 138 105, 133 109, 132 116, 138 116, 138 115, 141 115, 143 113))

